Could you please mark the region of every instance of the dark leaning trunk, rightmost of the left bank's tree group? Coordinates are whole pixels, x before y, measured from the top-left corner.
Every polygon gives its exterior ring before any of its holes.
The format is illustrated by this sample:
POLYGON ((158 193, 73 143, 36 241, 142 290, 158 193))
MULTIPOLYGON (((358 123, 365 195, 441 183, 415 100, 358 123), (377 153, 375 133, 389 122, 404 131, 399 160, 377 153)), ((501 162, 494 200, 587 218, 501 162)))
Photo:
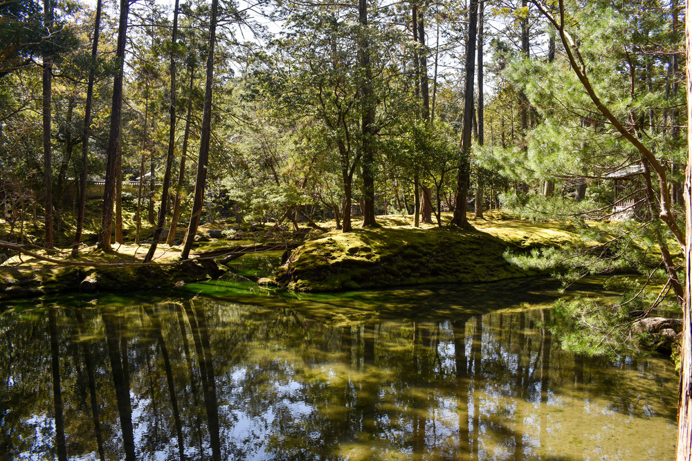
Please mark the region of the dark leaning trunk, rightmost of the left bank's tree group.
POLYGON ((188 233, 185 235, 185 244, 181 258, 188 259, 194 236, 197 234, 199 218, 202 214, 204 202, 204 187, 207 180, 207 165, 209 163, 209 142, 211 138, 212 122, 212 85, 214 83, 214 45, 216 41, 217 14, 219 0, 212 0, 212 17, 209 25, 209 54, 207 56, 207 77, 204 88, 204 110, 202 113, 202 133, 199 140, 199 158, 197 159, 197 180, 194 183, 194 199, 192 200, 192 214, 188 233))

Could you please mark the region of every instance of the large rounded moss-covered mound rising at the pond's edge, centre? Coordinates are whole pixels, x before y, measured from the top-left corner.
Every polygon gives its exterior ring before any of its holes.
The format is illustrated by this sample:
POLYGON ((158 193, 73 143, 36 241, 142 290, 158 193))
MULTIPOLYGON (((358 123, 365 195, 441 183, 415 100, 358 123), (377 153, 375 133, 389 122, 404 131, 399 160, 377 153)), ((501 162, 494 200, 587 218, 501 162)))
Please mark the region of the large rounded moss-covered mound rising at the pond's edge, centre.
POLYGON ((331 232, 295 250, 276 280, 313 292, 516 279, 540 272, 511 265, 505 250, 527 251, 574 238, 567 232, 490 232, 410 226, 331 232))

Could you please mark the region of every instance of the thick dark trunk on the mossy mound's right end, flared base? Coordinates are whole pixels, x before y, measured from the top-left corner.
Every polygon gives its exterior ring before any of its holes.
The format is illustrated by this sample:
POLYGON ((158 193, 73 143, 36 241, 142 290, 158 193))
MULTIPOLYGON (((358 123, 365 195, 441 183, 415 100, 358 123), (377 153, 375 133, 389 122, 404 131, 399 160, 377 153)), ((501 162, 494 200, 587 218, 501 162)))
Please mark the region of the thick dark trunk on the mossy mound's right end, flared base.
POLYGON ((473 73, 475 70, 475 41, 478 19, 478 0, 471 0, 468 6, 468 38, 466 39, 466 82, 464 82, 464 120, 462 126, 462 158, 457 173, 456 206, 452 224, 468 227, 466 217, 466 196, 468 196, 468 175, 471 170, 471 131, 473 129, 473 73))

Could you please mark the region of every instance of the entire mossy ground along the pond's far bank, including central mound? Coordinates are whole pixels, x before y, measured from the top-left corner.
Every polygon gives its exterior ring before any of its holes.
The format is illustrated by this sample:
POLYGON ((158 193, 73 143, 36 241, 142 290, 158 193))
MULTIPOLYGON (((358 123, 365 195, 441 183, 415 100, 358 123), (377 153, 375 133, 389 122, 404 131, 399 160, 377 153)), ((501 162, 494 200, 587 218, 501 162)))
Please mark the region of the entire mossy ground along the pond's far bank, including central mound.
MULTIPOLYGON (((443 218, 448 221, 450 216, 443 218)), ((333 221, 320 223, 329 232, 308 227, 281 230, 270 224, 240 227, 219 221, 199 228, 192 258, 184 263, 179 260, 181 246, 165 243, 158 245, 148 265, 142 263, 149 247, 146 241, 116 244, 109 253, 83 247, 80 258, 70 258, 69 248, 51 252, 32 247, 35 256, 15 254, 0 265, 0 300, 44 293, 165 288, 215 279, 229 269, 263 285, 302 292, 499 281, 548 273, 509 262, 508 251, 529 254, 536 248, 583 240, 572 223, 531 223, 496 210, 484 219, 471 220, 473 229, 465 231, 436 224, 414 227, 412 216, 378 216, 377 220, 380 227, 355 228, 347 234, 336 230, 333 221), (265 258, 271 263, 255 267, 257 255, 263 253, 272 254, 265 258), (244 267, 244 261, 253 267, 244 267)), ((357 218, 353 224, 358 225, 357 218)), ((142 235, 147 232, 143 230, 142 235)))

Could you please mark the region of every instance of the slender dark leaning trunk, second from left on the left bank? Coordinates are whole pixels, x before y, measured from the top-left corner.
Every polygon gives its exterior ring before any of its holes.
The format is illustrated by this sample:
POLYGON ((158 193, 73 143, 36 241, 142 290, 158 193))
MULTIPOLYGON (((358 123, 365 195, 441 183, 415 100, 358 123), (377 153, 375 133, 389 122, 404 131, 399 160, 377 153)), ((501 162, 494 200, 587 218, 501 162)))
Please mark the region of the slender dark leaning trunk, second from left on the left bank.
POLYGON ((89 134, 91 133, 91 104, 93 101, 93 82, 96 79, 96 56, 98 52, 98 35, 101 25, 101 0, 96 1, 96 17, 93 26, 93 43, 91 45, 91 64, 89 68, 89 83, 86 86, 86 107, 84 108, 84 139, 82 140, 82 171, 80 173, 80 200, 77 212, 77 229, 75 242, 72 245, 72 257, 79 256, 84 228, 84 210, 86 209, 86 181, 89 169, 89 134))

